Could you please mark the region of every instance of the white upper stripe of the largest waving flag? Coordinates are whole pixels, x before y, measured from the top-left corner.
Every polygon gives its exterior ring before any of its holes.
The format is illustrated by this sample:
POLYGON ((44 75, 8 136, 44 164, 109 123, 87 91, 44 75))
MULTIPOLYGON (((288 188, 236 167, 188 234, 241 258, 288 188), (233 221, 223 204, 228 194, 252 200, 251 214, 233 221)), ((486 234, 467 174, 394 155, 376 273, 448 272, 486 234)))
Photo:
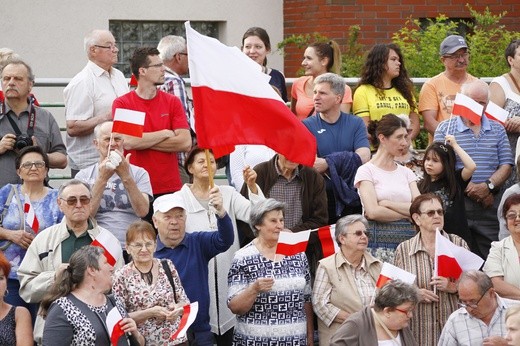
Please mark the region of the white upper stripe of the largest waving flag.
POLYGON ((225 46, 217 39, 199 34, 191 28, 189 22, 186 22, 184 26, 186 27, 192 86, 208 86, 215 90, 283 102, 269 85, 270 76, 263 73, 262 67, 242 53, 240 49, 225 46), (222 51, 226 49, 233 59, 221 59, 222 51), (237 60, 240 64, 237 63, 237 60), (215 61, 219 61, 219 68, 215 68, 215 61), (234 74, 241 78, 229 78, 229 71, 234 71, 234 74), (258 79, 265 80, 265 83, 251 83, 258 79))

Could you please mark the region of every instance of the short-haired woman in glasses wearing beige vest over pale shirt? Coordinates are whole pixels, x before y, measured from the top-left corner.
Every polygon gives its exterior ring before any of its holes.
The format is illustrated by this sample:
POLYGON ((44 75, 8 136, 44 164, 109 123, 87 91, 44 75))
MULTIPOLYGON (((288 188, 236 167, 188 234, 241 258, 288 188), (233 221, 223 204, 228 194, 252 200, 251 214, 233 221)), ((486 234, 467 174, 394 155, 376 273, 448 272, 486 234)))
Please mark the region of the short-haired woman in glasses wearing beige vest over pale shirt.
POLYGON ((320 346, 328 346, 339 326, 372 302, 381 262, 367 251, 367 227, 361 215, 339 219, 335 237, 340 251, 319 263, 312 306, 318 316, 320 346))

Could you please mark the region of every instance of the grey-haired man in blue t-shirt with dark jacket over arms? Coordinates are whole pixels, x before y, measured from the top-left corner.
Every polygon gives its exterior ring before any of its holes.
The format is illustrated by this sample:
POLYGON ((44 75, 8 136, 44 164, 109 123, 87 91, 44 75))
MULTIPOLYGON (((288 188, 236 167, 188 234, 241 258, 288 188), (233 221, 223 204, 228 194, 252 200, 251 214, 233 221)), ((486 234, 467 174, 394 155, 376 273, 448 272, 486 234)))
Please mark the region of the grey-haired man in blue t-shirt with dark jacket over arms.
POLYGON ((316 137, 318 157, 314 168, 325 178, 329 224, 340 217, 361 213, 361 202, 354 188, 359 166, 370 159, 367 129, 363 120, 341 112, 345 81, 325 73, 314 81, 316 114, 303 124, 316 137))

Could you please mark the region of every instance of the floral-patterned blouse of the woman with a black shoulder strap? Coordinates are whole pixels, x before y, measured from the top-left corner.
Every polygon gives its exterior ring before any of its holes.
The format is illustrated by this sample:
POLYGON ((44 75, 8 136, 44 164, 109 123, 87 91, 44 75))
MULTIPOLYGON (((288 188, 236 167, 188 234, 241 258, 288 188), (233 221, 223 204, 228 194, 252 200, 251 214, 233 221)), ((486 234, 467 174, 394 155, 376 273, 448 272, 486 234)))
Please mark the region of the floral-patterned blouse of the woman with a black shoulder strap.
MULTIPOLYGON (((159 268, 159 277, 151 286, 133 269, 132 263, 125 265, 114 274, 112 284, 114 296, 123 302, 129 313, 154 306, 168 307, 179 302, 189 304, 190 300, 184 292, 177 270, 170 260, 167 261, 175 283, 175 295, 159 260, 154 259, 155 265, 159 268)), ((172 334, 177 331, 180 320, 180 316, 172 321, 158 320, 153 317, 138 324, 137 328, 145 338, 146 345, 177 345, 187 340, 185 337, 170 340, 172 334)))

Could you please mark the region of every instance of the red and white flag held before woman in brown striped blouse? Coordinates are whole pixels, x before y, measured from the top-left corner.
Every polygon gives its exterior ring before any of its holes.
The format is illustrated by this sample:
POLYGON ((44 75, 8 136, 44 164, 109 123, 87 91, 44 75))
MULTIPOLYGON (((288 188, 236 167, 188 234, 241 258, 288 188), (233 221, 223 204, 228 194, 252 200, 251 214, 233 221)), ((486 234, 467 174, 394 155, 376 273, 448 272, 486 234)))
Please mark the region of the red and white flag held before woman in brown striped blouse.
POLYGON ((473 252, 453 244, 437 231, 435 235, 435 271, 437 276, 457 280, 466 270, 479 270, 484 260, 473 252))

